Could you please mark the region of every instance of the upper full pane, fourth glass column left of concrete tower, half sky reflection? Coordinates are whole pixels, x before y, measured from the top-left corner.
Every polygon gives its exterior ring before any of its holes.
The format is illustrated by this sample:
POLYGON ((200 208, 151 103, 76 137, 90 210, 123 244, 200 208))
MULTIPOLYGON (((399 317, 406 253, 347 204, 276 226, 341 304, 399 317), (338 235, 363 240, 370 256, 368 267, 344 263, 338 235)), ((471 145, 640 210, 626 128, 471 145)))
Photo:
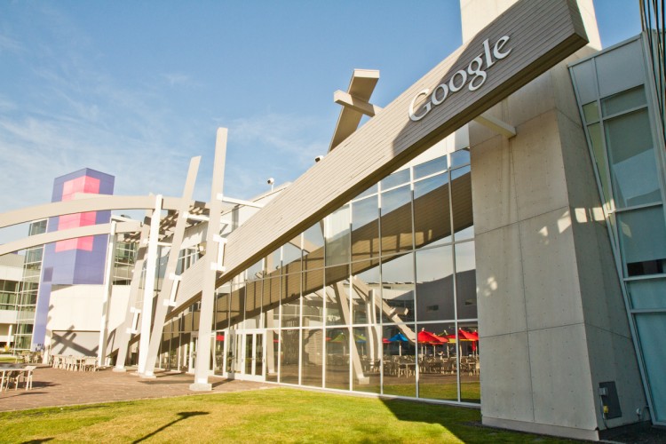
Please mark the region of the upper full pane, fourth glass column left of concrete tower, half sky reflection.
POLYGON ((379 198, 352 203, 352 260, 379 255, 379 198))

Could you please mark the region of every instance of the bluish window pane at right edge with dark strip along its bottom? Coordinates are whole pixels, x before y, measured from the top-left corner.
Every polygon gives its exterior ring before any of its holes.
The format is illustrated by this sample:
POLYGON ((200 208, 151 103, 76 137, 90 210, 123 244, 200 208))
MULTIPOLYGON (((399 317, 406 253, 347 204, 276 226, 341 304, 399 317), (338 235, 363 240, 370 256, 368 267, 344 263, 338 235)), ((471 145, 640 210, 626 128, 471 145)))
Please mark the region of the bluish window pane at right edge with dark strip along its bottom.
POLYGON ((662 274, 666 261, 662 206, 621 212, 617 221, 628 275, 662 274))

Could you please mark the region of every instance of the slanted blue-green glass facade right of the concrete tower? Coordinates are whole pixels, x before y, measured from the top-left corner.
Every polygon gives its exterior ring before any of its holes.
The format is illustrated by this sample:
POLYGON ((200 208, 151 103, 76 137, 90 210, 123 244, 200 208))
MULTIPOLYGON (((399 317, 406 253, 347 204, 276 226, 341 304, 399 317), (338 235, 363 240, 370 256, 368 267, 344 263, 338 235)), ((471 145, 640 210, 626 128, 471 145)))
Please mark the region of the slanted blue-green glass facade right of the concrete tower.
POLYGON ((656 424, 666 424, 666 223, 660 120, 644 38, 570 68, 656 424))

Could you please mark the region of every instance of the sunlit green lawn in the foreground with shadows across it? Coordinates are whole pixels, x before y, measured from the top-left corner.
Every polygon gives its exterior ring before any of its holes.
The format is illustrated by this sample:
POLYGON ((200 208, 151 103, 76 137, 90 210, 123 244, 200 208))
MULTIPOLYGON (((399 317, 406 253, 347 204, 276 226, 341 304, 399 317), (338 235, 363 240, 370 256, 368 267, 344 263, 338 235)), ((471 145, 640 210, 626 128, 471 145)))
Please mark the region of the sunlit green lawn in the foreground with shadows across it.
POLYGON ((0 442, 561 442, 479 410, 276 388, 0 413, 0 442))

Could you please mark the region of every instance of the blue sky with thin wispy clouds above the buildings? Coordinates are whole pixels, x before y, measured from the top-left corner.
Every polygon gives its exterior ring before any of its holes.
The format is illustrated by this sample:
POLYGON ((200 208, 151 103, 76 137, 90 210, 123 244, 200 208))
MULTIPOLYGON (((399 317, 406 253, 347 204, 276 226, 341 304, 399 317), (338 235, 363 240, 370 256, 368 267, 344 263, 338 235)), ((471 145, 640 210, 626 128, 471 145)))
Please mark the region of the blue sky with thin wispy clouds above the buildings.
MULTIPOLYGON (((638 0, 595 6, 605 46, 640 31, 638 0)), ((225 194, 249 198, 326 153, 353 68, 380 70, 385 106, 460 36, 457 0, 0 0, 0 213, 85 167, 115 194, 179 195, 194 155, 208 200, 219 126, 225 194)))

